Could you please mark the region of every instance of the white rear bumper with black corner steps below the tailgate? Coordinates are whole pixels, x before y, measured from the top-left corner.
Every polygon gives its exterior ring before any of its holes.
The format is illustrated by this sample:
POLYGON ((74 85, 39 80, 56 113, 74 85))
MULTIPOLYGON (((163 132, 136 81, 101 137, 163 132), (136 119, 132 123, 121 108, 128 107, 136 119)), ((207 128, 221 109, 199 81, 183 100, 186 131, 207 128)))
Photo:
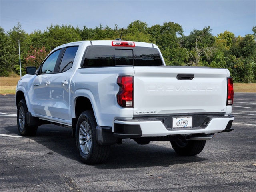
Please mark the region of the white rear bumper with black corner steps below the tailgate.
POLYGON ((232 131, 231 128, 234 116, 207 117, 207 125, 193 127, 188 130, 172 130, 165 125, 164 120, 156 118, 132 119, 114 121, 113 135, 119 138, 140 138, 140 137, 165 137, 181 134, 212 134, 232 131))

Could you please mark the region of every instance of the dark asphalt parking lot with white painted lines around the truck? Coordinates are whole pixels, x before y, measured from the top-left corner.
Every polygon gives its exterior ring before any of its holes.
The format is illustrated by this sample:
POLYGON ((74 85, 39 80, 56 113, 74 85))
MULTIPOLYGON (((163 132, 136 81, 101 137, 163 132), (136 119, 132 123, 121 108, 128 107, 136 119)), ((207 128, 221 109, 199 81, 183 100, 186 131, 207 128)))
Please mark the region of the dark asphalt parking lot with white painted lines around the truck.
POLYGON ((72 130, 55 125, 20 137, 15 96, 0 96, 0 191, 255 191, 256 94, 235 93, 234 131, 216 134, 194 157, 178 156, 170 142, 123 140, 108 162, 79 159, 72 130))

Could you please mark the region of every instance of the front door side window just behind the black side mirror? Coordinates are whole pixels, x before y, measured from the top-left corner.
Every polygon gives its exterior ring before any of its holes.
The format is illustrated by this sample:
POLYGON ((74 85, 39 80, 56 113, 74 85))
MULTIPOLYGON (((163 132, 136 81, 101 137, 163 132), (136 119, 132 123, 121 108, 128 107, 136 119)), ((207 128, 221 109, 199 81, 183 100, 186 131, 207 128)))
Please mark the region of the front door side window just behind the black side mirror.
POLYGON ((53 73, 54 72, 54 68, 56 65, 56 62, 58 60, 58 56, 60 54, 60 50, 56 50, 55 52, 53 52, 43 63, 42 65, 42 70, 41 70, 41 74, 45 74, 45 73, 53 73))

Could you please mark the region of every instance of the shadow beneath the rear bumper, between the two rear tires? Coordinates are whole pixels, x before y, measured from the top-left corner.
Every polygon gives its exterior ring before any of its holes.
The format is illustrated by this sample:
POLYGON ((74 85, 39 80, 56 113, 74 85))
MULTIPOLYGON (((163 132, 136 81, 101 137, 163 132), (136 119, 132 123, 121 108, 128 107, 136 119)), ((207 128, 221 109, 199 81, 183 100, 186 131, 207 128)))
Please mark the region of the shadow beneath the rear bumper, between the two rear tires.
POLYGON ((134 140, 123 140, 122 145, 111 146, 108 162, 96 165, 99 169, 120 169, 186 164, 208 160, 200 155, 192 157, 179 156, 174 152, 170 142, 150 142, 137 144, 134 140))

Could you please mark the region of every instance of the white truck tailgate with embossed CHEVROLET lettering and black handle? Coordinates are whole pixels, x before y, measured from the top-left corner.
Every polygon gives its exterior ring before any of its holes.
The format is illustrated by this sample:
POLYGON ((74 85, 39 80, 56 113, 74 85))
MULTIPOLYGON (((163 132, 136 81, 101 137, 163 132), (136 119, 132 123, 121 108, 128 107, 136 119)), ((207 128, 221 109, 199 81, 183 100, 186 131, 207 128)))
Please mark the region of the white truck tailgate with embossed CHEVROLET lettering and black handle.
POLYGON ((224 113, 229 75, 217 68, 134 66, 134 115, 224 113))

